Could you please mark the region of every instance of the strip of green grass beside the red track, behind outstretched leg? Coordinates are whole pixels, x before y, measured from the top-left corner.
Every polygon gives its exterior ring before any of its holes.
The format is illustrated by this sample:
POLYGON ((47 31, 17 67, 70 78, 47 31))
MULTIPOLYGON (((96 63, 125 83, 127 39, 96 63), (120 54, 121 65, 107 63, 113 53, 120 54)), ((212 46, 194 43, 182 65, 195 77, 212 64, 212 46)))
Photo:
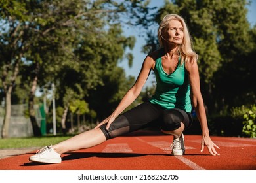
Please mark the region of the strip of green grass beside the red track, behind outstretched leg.
POLYGON ((51 144, 56 144, 58 142, 64 141, 72 136, 66 135, 0 139, 0 149, 49 146, 51 144))

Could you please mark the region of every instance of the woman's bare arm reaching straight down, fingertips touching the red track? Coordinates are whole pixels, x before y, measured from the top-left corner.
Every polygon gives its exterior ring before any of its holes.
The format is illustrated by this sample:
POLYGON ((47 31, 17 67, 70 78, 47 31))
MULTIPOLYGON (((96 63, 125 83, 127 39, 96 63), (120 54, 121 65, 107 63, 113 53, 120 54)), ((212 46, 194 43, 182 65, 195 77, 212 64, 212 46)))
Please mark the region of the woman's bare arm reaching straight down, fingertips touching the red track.
POLYGON ((219 148, 216 144, 211 141, 211 138, 209 137, 209 129, 207 125, 207 118, 206 118, 206 112, 205 107, 203 103, 203 97, 200 90, 200 76, 198 72, 198 64, 196 61, 188 61, 186 63, 186 70, 188 71, 189 80, 190 80, 190 90, 192 94, 192 105, 196 110, 196 116, 198 117, 198 120, 201 125, 202 129, 202 148, 201 152, 204 149, 204 146, 207 146, 209 152, 212 155, 219 155, 216 150, 216 148, 219 148))

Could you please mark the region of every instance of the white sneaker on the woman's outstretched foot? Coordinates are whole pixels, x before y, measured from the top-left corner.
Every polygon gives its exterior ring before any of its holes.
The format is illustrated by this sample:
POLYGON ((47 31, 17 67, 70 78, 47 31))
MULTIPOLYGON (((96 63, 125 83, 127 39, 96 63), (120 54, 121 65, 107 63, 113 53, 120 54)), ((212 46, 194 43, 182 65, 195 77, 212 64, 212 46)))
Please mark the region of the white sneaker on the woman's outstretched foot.
POLYGON ((30 161, 40 163, 61 163, 60 154, 56 153, 52 146, 45 146, 40 150, 37 150, 36 154, 30 156, 30 161))

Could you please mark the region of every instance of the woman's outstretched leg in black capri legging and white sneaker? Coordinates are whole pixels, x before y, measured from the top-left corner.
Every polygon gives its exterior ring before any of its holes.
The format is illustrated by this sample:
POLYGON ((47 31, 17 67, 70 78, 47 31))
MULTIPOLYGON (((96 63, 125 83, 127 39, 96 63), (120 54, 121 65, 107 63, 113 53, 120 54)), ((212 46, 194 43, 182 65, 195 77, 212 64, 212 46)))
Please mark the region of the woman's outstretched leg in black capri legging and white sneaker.
POLYGON ((39 150, 37 154, 30 156, 30 161, 60 163, 60 154, 82 148, 90 148, 101 144, 106 139, 112 139, 124 133, 135 131, 158 118, 159 113, 158 108, 150 103, 141 104, 116 118, 110 125, 110 129, 107 130, 106 125, 102 125, 97 129, 85 131, 53 146, 47 146, 39 150))

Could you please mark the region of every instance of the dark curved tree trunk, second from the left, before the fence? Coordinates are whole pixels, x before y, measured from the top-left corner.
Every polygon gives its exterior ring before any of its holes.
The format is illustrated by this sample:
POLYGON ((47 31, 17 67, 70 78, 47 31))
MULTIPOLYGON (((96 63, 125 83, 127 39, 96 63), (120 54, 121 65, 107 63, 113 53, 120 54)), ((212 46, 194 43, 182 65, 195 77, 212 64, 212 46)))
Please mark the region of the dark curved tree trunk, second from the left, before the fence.
POLYGON ((37 76, 35 76, 33 78, 32 88, 30 89, 30 95, 28 97, 28 111, 29 111, 29 115, 30 115, 30 122, 31 122, 32 128, 33 128, 33 135, 35 137, 40 137, 40 136, 42 136, 42 133, 37 124, 37 120, 35 118, 35 109, 33 107, 36 87, 37 87, 37 76))

